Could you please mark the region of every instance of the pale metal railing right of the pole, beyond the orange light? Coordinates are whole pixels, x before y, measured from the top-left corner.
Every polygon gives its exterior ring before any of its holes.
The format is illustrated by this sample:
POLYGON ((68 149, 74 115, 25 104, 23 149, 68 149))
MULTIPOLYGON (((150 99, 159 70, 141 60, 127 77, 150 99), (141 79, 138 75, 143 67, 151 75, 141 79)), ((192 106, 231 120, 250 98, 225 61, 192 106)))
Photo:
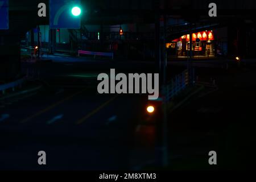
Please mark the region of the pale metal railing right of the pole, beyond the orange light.
POLYGON ((176 96, 181 90, 185 89, 189 84, 189 73, 188 70, 176 75, 166 85, 166 100, 169 101, 171 98, 176 96))

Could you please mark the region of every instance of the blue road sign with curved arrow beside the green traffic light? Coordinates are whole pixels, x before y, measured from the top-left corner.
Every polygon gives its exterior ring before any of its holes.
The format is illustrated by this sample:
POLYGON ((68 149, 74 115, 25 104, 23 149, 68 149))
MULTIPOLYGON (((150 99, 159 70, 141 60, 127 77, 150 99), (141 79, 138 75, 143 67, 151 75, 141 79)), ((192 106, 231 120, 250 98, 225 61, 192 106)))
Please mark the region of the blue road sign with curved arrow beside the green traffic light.
MULTIPOLYGON (((1 0, 0 0, 1 1, 1 0)), ((80 29, 81 18, 74 16, 72 9, 81 7, 80 0, 50 0, 49 1, 49 24, 50 28, 80 29)))

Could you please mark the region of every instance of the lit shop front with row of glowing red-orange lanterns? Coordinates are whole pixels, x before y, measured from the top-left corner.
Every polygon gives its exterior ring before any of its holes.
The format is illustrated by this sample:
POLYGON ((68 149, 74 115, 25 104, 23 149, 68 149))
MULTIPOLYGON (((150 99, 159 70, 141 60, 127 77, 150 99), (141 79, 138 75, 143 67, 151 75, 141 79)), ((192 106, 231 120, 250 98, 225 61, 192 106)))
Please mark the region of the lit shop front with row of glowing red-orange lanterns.
MULTIPOLYGON (((183 35, 179 39, 172 40, 166 44, 168 55, 183 57, 188 55, 189 34, 183 35)), ((192 34, 193 56, 214 56, 214 35, 213 31, 203 31, 192 34), (197 40, 197 41, 196 41, 197 40)))

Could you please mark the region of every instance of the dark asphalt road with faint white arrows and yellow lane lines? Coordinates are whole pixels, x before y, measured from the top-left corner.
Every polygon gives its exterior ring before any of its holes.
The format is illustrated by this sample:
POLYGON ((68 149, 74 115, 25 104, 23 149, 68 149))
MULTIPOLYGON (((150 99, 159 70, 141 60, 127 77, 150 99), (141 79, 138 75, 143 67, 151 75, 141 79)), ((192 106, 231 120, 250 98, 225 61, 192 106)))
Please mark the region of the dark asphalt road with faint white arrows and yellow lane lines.
POLYGON ((43 89, 2 103, 1 169, 131 168, 145 97, 98 94, 98 73, 80 70, 81 65, 23 64, 43 89), (46 151, 46 166, 38 165, 39 151, 46 151))

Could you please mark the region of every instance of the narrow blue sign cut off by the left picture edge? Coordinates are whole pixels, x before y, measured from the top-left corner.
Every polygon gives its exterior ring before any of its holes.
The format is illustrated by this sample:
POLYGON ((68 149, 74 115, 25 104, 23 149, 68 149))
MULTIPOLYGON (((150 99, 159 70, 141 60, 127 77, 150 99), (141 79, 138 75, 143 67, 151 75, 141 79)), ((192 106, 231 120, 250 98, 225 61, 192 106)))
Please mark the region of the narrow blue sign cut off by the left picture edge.
POLYGON ((9 29, 9 0, 0 0, 0 29, 9 29))

